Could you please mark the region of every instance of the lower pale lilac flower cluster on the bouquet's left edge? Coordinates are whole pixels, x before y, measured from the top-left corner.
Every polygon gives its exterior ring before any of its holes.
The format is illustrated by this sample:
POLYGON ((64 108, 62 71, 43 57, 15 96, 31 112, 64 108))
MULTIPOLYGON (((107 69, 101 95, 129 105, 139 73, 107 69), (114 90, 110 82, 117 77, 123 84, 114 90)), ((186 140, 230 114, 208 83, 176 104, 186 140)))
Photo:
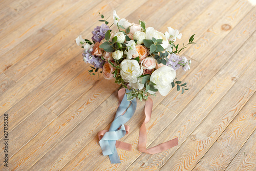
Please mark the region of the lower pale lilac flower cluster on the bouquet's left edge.
POLYGON ((84 50, 82 54, 83 61, 94 65, 95 68, 103 68, 104 60, 102 60, 100 57, 92 55, 92 48, 90 50, 84 50))

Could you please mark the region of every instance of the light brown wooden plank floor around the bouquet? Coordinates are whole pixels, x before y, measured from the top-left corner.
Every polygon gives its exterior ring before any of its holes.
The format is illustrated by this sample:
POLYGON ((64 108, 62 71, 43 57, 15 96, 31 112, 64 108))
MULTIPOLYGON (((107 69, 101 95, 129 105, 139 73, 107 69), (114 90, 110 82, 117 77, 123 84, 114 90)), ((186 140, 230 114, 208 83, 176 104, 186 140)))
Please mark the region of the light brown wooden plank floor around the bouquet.
POLYGON ((5 0, 0 5, 0 170, 256 170, 255 0, 5 0), (137 149, 144 101, 127 123, 121 164, 103 156, 97 133, 117 110, 118 85, 90 76, 75 44, 91 37, 98 12, 112 11, 197 45, 182 55, 191 70, 183 95, 153 97, 147 146, 179 137, 159 154, 137 149), (8 114, 8 167, 3 164, 8 114))

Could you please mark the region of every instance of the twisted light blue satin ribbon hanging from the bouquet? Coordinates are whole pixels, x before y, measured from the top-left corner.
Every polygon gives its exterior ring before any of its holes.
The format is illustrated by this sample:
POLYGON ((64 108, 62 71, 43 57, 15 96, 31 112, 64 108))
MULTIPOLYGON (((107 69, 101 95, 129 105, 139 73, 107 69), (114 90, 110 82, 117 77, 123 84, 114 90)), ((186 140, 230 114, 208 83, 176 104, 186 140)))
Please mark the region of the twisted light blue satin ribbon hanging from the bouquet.
MULTIPOLYGON (((126 93, 129 92, 127 89, 125 91, 126 93)), ((126 131, 124 123, 132 118, 133 114, 135 113, 136 106, 136 98, 129 101, 127 100, 127 95, 124 94, 123 99, 117 109, 115 119, 111 123, 109 132, 106 132, 102 139, 99 141, 103 155, 109 155, 111 163, 121 163, 116 151, 116 140, 119 140, 125 136, 126 131), (120 130, 118 130, 119 127, 121 127, 120 130)))

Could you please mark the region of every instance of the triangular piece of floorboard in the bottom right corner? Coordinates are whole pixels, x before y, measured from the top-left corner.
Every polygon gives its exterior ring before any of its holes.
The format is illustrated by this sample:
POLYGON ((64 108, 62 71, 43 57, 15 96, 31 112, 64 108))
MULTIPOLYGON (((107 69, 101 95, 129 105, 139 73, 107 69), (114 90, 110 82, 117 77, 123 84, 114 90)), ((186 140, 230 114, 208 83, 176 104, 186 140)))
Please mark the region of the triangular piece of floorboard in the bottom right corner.
POLYGON ((256 130, 240 149, 239 153, 234 157, 232 162, 225 169, 226 171, 233 170, 255 170, 256 169, 256 130))

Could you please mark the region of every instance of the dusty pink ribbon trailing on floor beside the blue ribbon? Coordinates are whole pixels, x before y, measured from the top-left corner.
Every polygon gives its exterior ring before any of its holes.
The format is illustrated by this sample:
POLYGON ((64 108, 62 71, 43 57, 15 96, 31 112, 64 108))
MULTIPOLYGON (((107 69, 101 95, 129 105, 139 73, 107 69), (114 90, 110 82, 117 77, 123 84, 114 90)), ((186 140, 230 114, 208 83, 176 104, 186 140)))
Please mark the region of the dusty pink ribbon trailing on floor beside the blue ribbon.
MULTIPOLYGON (((120 89, 118 91, 118 106, 120 105, 123 97, 125 94, 125 89, 120 89)), ((148 154, 156 154, 156 153, 160 153, 165 151, 166 149, 172 148, 176 145, 178 145, 178 137, 174 138, 172 140, 169 140, 167 142, 161 143, 159 145, 156 145, 154 147, 151 147, 149 149, 146 149, 146 123, 148 121, 150 121, 151 118, 151 113, 152 113, 152 108, 153 108, 153 101, 151 98, 148 98, 146 103, 145 103, 145 107, 144 107, 144 112, 145 112, 145 119, 140 127, 140 133, 139 133, 139 142, 138 142, 138 149, 140 152, 144 152, 144 153, 148 153, 148 154)), ((129 133, 129 129, 130 127, 128 125, 124 125, 125 126, 125 131, 126 134, 129 133)), ((98 137, 99 140, 103 137, 103 135, 108 132, 108 130, 102 130, 98 133, 98 137)), ((117 148, 121 148, 121 149, 125 149, 127 151, 132 151, 132 144, 130 143, 126 143, 126 142, 122 142, 122 141, 116 141, 116 147, 117 148)))

